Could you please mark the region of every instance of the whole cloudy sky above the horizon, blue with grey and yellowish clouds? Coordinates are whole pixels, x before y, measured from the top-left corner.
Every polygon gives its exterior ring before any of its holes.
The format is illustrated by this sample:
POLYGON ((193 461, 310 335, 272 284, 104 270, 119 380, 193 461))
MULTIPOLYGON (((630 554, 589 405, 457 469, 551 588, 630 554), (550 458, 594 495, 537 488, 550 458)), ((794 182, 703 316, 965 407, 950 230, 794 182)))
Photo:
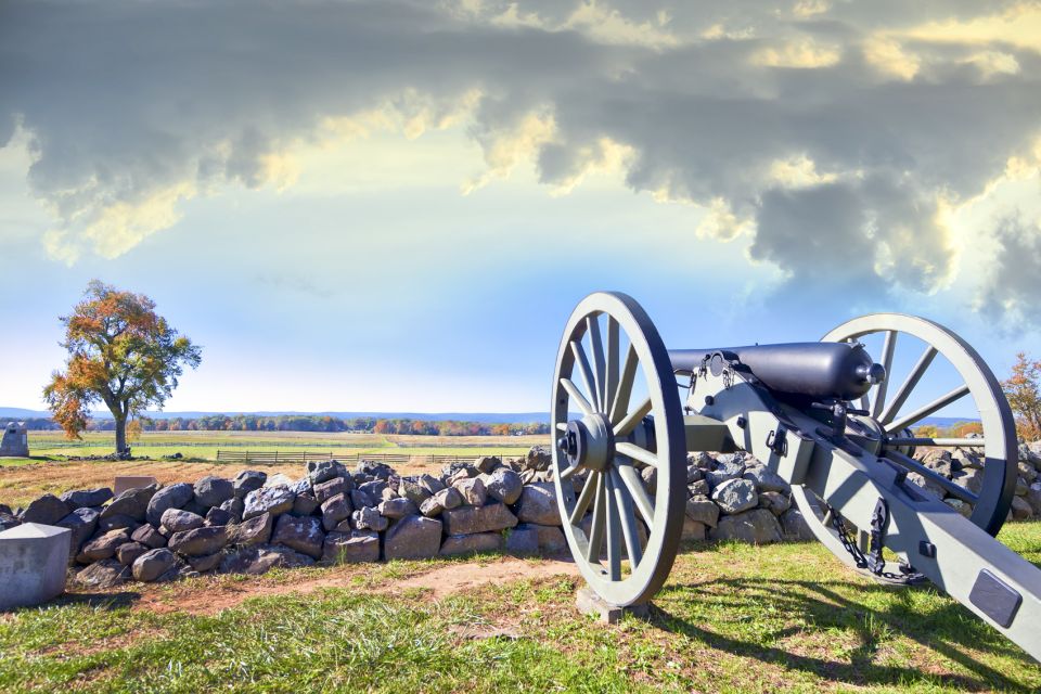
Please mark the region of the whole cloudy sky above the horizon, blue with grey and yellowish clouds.
POLYGON ((921 314, 1003 376, 1039 82, 1039 3, 5 0, 0 404, 93 278, 203 347, 171 411, 544 411, 600 290, 670 347, 921 314))

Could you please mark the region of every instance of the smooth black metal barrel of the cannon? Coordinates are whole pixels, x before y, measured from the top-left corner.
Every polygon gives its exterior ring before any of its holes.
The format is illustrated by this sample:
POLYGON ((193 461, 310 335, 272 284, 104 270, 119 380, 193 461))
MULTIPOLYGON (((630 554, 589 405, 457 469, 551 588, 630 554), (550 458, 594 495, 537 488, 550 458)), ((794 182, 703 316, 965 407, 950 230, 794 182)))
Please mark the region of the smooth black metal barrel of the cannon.
POLYGON ((863 345, 856 343, 670 349, 669 358, 673 371, 696 372, 705 357, 714 352, 737 359, 771 390, 813 398, 853 400, 885 377, 882 367, 874 363, 863 345))

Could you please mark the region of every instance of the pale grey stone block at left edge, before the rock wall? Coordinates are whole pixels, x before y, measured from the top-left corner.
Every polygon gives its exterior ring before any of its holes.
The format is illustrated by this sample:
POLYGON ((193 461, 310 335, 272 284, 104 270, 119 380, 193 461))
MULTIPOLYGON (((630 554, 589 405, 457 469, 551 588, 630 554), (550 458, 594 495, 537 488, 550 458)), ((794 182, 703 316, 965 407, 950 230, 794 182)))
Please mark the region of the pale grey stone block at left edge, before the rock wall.
POLYGON ((36 605, 65 592, 73 531, 23 523, 0 532, 0 609, 36 605))

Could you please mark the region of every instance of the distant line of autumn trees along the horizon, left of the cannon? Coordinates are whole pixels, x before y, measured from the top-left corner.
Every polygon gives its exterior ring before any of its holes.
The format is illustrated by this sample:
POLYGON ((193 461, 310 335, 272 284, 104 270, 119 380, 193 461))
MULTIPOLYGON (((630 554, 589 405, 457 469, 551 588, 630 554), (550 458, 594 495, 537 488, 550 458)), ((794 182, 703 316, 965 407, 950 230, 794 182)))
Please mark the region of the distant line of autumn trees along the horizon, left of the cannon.
MULTIPOLYGON (((419 434, 430 436, 509 436, 522 434, 549 434, 545 422, 514 424, 488 424, 485 422, 459 422, 445 420, 425 422, 410 419, 377 419, 357 416, 340 419, 329 415, 279 414, 217 414, 201 417, 174 417, 152 420, 142 417, 143 432, 363 432, 375 434, 419 434)), ((53 420, 34 417, 25 420, 30 429, 59 429, 53 420)), ((89 432, 112 432, 115 421, 92 419, 89 432)))

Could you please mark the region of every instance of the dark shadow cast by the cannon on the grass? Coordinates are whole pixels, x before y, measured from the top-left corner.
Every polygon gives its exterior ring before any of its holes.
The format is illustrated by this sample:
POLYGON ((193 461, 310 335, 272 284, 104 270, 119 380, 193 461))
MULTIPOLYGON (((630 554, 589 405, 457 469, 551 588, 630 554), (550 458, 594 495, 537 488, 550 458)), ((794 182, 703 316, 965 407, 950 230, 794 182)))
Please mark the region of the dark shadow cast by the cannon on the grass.
MULTIPOLYGON (((915 591, 922 589, 914 589, 915 591)), ((668 586, 660 593, 661 602, 652 605, 648 619, 651 624, 673 633, 682 633, 699 640, 714 648, 728 653, 756 658, 783 668, 812 672, 825 680, 847 684, 905 684, 909 681, 936 680, 942 678, 948 686, 960 690, 1025 691, 1034 690, 1011 680, 1005 673, 974 660, 966 651, 971 647, 985 647, 1000 651, 1002 655, 1019 659, 1024 667, 1037 667, 1037 664, 1012 642, 1004 639, 987 625, 978 621, 967 609, 956 603, 946 603, 934 609, 920 612, 912 604, 908 590, 883 586, 857 586, 841 581, 799 581, 735 578, 712 580, 703 583, 668 586), (843 591, 854 590, 864 600, 850 600, 833 587, 843 591), (895 594, 896 599, 883 609, 869 607, 865 602, 879 592, 895 594), (669 600, 672 599, 672 600, 669 600), (673 614, 663 608, 666 602, 699 601, 709 606, 711 619, 696 618, 698 607, 692 614, 673 614), (762 611, 764 605, 771 608, 771 619, 779 613, 789 613, 801 617, 805 624, 784 626, 775 629, 760 629, 751 639, 720 633, 706 627, 706 624, 740 625, 749 619, 748 613, 762 611), (722 615, 718 611, 724 611, 722 615), (727 614, 731 613, 731 614, 727 614), (820 656, 793 653, 782 645, 789 637, 812 631, 827 638, 837 634, 836 643, 846 643, 844 634, 854 634, 858 645, 848 652, 847 659, 834 659, 820 656), (877 651, 885 646, 890 634, 903 634, 923 646, 958 663, 972 673, 938 676, 935 672, 918 670, 914 667, 882 665, 875 661, 877 651), (838 641, 843 639, 841 641, 838 641)), ((791 625, 791 620, 784 620, 791 625)), ((740 627, 737 627, 740 629, 740 627)))

